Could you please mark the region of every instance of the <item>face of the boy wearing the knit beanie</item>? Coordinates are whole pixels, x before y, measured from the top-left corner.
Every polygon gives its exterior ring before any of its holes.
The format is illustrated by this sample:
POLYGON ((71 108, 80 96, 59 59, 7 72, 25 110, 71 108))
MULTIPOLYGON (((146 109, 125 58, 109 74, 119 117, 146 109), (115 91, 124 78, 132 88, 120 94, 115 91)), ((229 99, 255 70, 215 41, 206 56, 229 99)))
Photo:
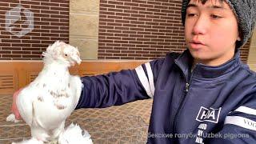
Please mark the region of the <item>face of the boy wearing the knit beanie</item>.
POLYGON ((218 66, 234 57, 238 22, 226 2, 191 0, 186 10, 186 45, 195 62, 218 66))

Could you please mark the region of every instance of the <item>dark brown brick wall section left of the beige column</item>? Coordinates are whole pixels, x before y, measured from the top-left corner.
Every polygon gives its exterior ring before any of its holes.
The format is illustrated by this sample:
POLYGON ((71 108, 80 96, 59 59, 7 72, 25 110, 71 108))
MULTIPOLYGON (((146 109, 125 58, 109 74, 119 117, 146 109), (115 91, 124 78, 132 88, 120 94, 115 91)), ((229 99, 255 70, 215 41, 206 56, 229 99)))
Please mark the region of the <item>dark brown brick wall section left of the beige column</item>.
POLYGON ((1 0, 0 25, 0 59, 41 59, 49 44, 69 40, 69 0, 1 0), (6 13, 18 5, 23 8, 19 20, 11 25, 12 33, 28 29, 26 10, 34 14, 34 28, 20 38, 6 30, 6 23, 11 23, 6 13))

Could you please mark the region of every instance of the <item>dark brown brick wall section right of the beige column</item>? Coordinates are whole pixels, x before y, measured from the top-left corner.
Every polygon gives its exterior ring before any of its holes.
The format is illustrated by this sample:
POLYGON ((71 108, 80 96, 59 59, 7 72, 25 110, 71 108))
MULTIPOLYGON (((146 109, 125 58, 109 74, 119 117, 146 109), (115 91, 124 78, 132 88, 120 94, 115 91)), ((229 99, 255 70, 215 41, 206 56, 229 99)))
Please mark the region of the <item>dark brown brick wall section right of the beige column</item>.
MULTIPOLYGON (((98 58, 153 59, 186 49, 182 0, 101 0, 98 58)), ((249 44, 242 48, 246 62, 249 44)))

